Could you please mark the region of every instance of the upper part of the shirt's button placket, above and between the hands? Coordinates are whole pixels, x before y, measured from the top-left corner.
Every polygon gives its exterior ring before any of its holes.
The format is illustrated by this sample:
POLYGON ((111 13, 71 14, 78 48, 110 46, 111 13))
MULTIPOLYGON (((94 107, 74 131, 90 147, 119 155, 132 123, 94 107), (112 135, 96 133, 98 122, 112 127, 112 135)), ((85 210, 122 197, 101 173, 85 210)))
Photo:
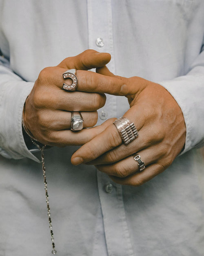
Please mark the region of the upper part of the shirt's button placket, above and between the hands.
MULTIPOLYGON (((111 1, 88 0, 87 4, 89 48, 98 52, 109 52, 111 61, 107 64, 107 67, 111 72, 115 73, 111 1)), ((108 118, 116 117, 116 98, 115 95, 106 94, 106 104, 98 110, 97 125, 100 125, 108 118)))

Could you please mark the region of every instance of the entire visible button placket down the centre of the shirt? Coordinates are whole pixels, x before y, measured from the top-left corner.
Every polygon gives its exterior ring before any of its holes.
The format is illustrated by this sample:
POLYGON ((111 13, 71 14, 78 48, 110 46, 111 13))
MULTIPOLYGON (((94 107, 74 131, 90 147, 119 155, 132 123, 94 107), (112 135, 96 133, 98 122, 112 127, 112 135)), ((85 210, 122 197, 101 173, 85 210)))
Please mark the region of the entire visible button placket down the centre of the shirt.
MULTIPOLYGON (((89 48, 109 52, 108 68, 115 73, 111 0, 88 0, 89 48)), ((116 96, 106 95, 106 104, 100 109, 98 124, 117 116, 116 96)), ((133 256, 133 249, 126 223, 122 186, 97 171, 98 193, 103 216, 103 227, 108 256, 133 256), (120 244, 120 246, 118 246, 120 244)))

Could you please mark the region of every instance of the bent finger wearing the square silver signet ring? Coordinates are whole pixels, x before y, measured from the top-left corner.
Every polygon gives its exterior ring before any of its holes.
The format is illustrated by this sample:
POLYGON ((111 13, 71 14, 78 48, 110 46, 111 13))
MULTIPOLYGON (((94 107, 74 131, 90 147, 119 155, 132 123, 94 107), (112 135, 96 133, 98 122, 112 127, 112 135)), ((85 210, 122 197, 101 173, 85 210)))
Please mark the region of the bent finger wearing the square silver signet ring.
MULTIPOLYGON (((98 120, 98 112, 81 112, 84 119, 84 128, 93 127, 98 120)), ((64 130, 71 129, 71 112, 69 111, 52 111, 42 110, 40 113, 40 120, 38 122, 40 126, 46 124, 47 129, 50 130, 64 130)))

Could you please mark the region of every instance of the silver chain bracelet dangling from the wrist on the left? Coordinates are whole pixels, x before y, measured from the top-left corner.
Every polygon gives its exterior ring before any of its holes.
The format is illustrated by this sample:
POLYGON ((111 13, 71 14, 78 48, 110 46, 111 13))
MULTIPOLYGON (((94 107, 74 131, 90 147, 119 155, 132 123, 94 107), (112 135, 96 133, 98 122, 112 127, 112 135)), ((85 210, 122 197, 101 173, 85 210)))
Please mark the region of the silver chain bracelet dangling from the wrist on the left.
POLYGON ((54 234, 53 234, 53 229, 52 229, 52 220, 51 220, 51 213, 50 213, 50 206, 49 206, 49 195, 48 195, 48 190, 47 190, 47 179, 46 179, 46 172, 45 172, 45 162, 44 162, 44 149, 46 145, 43 145, 42 147, 38 145, 38 140, 36 140, 27 127, 24 124, 23 116, 22 116, 22 127, 24 131, 28 134, 28 136, 31 138, 31 142, 38 147, 38 149, 41 152, 41 163, 42 163, 42 174, 44 178, 44 190, 45 190, 45 197, 46 197, 46 203, 47 203, 47 215, 48 215, 48 220, 49 220, 49 228, 50 228, 50 234, 51 234, 51 241, 52 241, 52 254, 57 254, 57 251, 55 250, 55 243, 54 243, 54 234))

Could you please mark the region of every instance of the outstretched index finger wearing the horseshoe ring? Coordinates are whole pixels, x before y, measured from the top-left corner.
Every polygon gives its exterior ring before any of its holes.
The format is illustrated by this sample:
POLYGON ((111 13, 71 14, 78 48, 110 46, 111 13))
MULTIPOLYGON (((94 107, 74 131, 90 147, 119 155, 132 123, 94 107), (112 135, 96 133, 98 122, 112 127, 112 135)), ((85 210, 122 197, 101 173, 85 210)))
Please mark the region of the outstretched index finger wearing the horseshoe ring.
MULTIPOLYGON (((149 82, 141 77, 125 78, 114 76, 106 67, 102 68, 102 70, 104 70, 102 72, 104 75, 92 71, 77 70, 77 91, 126 96, 134 95, 138 90, 142 90, 146 86, 146 83, 149 82), (134 82, 132 79, 134 79, 134 82)), ((44 68, 40 72, 38 80, 41 85, 47 88, 57 86, 59 89, 62 89, 64 82, 69 84, 69 79, 64 79, 62 76, 65 71, 67 71, 67 68, 62 68, 62 66, 44 68)))

